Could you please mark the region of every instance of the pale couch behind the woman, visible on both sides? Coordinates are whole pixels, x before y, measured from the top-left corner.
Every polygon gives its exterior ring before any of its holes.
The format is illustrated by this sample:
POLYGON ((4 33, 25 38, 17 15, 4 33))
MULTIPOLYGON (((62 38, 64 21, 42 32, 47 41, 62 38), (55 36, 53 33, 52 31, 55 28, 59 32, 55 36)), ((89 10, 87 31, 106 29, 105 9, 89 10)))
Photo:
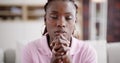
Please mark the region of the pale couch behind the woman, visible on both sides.
MULTIPOLYGON (((120 42, 108 44, 105 41, 86 42, 96 49, 98 63, 120 63, 120 42)), ((21 48, 22 44, 18 44, 18 47, 21 48)), ((3 51, 0 49, 0 63, 20 63, 20 50, 9 49, 3 51)))

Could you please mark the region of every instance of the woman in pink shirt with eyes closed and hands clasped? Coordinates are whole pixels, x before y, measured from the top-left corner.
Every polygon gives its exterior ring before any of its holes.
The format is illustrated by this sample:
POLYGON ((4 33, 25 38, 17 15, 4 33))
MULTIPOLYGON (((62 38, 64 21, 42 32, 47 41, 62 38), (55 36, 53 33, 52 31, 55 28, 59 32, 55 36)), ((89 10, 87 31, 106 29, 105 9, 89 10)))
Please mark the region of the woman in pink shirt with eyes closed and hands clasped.
POLYGON ((77 6, 73 0, 48 0, 45 35, 23 50, 23 63, 96 63, 95 50, 75 39, 77 6))

